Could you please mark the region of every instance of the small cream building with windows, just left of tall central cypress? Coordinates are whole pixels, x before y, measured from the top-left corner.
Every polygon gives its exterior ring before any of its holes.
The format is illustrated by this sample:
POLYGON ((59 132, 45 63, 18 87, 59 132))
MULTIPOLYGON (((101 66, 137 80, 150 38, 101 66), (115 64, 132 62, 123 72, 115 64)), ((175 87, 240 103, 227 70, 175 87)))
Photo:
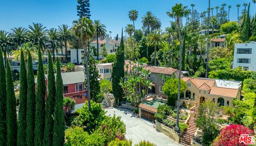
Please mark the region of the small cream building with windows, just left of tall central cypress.
POLYGON ((111 82, 111 68, 112 63, 99 63, 97 64, 100 79, 107 79, 111 82))

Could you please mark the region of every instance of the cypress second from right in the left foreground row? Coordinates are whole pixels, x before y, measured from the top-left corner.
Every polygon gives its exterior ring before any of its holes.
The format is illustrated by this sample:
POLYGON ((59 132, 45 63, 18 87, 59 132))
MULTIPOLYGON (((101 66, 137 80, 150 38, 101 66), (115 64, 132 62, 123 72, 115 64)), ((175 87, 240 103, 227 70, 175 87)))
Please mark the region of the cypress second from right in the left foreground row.
POLYGON ((53 71, 53 63, 51 52, 48 53, 48 87, 47 87, 47 99, 45 104, 45 127, 44 127, 44 145, 52 145, 53 140, 53 110, 55 100, 55 76, 53 71))

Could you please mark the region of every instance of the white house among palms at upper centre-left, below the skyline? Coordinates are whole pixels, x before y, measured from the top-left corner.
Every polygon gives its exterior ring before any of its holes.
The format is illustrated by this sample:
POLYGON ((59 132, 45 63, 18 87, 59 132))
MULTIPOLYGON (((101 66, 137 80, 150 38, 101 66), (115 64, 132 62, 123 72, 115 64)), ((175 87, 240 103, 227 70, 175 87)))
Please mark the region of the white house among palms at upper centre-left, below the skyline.
MULTIPOLYGON (((111 39, 109 38, 109 35, 106 35, 106 38, 103 40, 99 40, 99 54, 101 54, 103 52, 103 47, 106 47, 106 51, 108 54, 112 54, 112 53, 116 53, 118 46, 120 45, 120 41, 118 39, 111 39)), ((95 48, 97 48, 97 41, 94 40, 93 42, 91 42, 91 46, 94 46, 95 48)))

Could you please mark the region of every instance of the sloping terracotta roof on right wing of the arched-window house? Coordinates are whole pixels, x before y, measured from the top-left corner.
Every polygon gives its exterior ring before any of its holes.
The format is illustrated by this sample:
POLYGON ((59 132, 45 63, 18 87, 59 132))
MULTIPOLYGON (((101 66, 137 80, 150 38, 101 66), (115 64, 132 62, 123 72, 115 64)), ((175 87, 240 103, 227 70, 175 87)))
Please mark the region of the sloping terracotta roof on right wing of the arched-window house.
POLYGON ((234 88, 224 88, 224 87, 212 87, 210 94, 212 95, 219 95, 219 96, 226 96, 229 98, 236 98, 239 90, 234 88))

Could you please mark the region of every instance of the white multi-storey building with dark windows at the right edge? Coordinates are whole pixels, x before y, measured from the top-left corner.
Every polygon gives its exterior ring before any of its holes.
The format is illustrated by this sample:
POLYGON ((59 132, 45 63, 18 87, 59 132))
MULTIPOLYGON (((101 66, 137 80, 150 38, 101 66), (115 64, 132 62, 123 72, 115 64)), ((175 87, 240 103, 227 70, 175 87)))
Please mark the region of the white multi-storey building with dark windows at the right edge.
POLYGON ((233 68, 256 71, 256 42, 235 44, 233 68))

